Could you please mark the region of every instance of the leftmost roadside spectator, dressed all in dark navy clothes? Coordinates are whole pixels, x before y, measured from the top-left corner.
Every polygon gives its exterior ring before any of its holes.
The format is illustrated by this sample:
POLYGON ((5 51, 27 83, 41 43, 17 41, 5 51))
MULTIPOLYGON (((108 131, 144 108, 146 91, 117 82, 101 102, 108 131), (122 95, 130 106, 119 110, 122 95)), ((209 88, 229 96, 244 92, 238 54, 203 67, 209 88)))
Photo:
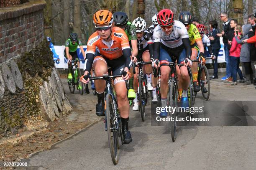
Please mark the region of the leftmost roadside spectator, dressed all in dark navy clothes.
POLYGON ((210 79, 218 79, 218 54, 220 51, 220 37, 217 36, 218 33, 220 33, 220 30, 218 30, 218 23, 216 20, 211 20, 209 24, 210 28, 210 43, 212 47, 212 53, 216 58, 214 59, 213 64, 213 76, 210 77, 210 79))

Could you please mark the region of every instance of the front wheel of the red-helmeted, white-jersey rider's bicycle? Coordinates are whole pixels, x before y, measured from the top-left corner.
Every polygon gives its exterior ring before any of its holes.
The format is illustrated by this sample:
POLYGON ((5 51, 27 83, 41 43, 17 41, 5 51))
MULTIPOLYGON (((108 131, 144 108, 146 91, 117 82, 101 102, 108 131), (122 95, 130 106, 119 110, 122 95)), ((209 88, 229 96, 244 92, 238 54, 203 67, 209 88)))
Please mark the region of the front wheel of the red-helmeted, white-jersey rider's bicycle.
MULTIPOLYGON (((167 106, 176 107, 177 105, 178 105, 178 89, 177 89, 177 86, 174 85, 174 82, 171 81, 169 83, 169 91, 167 93, 167 106)), ((177 137, 177 134, 176 134, 176 128, 177 128, 176 116, 177 116, 176 112, 172 113, 173 121, 170 121, 172 142, 174 142, 176 140, 176 137, 177 137)))

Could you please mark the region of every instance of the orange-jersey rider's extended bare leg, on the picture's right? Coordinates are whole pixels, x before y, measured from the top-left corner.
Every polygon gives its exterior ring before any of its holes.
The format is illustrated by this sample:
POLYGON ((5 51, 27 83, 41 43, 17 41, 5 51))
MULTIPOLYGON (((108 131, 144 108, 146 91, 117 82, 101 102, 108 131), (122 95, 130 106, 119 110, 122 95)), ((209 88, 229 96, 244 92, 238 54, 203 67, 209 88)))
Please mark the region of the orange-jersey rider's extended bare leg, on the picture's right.
POLYGON ((127 98, 125 81, 123 81, 122 78, 116 79, 117 80, 115 80, 115 94, 117 97, 118 110, 122 118, 128 118, 130 105, 127 98))

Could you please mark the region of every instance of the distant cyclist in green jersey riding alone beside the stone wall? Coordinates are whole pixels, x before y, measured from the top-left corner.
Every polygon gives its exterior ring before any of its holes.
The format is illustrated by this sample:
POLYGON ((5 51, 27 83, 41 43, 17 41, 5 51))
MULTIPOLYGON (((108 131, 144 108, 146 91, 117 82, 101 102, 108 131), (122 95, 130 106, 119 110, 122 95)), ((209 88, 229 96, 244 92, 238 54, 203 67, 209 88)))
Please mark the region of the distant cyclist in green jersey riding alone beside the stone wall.
MULTIPOLYGON (((64 50, 64 57, 68 59, 68 78, 73 79, 71 70, 72 70, 72 60, 79 60, 77 56, 77 46, 80 47, 80 50, 82 52, 82 55, 84 56, 85 59, 85 53, 84 53, 84 48, 82 45, 82 41, 80 41, 77 38, 77 33, 70 33, 69 39, 67 39, 65 43, 65 50, 64 50)), ((79 61, 77 62, 78 67, 80 66, 79 61)))

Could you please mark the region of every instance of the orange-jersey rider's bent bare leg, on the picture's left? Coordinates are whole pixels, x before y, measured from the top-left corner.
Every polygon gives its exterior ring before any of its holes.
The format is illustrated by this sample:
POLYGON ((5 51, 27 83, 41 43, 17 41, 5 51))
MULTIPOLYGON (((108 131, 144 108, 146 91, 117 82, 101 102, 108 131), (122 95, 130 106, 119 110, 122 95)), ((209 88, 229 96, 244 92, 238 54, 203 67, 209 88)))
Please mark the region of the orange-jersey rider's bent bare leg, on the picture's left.
MULTIPOLYGON (((93 63, 93 70, 95 76, 102 76, 103 74, 108 73, 108 66, 107 63, 105 63, 102 60, 97 60, 93 63)), ((102 93, 105 90, 105 80, 95 80, 95 88, 98 93, 102 93)))

